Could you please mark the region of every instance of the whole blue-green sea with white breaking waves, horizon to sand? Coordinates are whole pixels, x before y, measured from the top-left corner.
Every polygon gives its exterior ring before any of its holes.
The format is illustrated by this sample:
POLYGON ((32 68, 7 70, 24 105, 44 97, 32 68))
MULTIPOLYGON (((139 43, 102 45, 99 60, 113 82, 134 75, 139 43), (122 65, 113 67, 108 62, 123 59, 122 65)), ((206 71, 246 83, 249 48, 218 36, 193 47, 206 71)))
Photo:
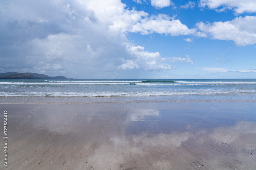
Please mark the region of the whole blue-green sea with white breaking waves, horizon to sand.
POLYGON ((256 79, 2 79, 0 103, 256 101, 256 79))

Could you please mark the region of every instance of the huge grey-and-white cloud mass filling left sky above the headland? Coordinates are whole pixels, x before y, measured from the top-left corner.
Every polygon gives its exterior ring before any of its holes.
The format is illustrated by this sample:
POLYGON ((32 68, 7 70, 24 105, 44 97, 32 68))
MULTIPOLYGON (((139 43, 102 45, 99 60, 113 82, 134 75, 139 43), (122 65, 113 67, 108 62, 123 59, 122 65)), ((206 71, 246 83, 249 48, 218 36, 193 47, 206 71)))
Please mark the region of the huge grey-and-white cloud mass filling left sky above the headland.
MULTIPOLYGON (((5 6, 7 2, 0 4, 5 6)), ((2 12, 1 72, 32 70, 52 76, 73 74, 74 78, 88 78, 86 72, 92 78, 102 78, 118 68, 171 69, 169 64, 161 61, 158 52, 135 48, 126 33, 155 32, 176 36, 195 32, 167 15, 149 15, 145 11, 129 9, 120 0, 101 2, 63 0, 56 4, 55 1, 31 3, 24 0, 2 12), (38 17, 41 18, 39 22, 38 17), (36 26, 32 27, 33 24, 36 26), (27 30, 29 33, 25 36, 27 30), (23 35, 15 46, 14 41, 23 35), (131 59, 131 54, 136 57, 131 59), (76 71, 81 63, 86 64, 76 71)))

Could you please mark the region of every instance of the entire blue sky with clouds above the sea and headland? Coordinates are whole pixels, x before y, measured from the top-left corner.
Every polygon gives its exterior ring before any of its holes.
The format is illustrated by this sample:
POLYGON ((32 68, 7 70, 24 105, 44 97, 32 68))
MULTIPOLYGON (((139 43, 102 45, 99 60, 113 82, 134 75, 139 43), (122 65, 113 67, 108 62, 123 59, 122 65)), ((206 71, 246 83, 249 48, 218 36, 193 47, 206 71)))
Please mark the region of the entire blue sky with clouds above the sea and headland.
POLYGON ((255 0, 3 0, 0 72, 256 79, 255 0))

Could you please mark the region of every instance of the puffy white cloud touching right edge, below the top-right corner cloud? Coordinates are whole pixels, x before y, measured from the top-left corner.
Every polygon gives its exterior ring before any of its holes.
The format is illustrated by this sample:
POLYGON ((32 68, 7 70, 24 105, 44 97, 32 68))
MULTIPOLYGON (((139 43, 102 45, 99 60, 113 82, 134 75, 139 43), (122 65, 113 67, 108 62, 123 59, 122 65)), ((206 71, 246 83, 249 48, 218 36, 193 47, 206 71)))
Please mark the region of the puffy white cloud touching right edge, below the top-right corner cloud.
POLYGON ((212 39, 231 40, 237 46, 256 43, 256 16, 236 17, 231 21, 212 24, 199 22, 196 26, 212 39))

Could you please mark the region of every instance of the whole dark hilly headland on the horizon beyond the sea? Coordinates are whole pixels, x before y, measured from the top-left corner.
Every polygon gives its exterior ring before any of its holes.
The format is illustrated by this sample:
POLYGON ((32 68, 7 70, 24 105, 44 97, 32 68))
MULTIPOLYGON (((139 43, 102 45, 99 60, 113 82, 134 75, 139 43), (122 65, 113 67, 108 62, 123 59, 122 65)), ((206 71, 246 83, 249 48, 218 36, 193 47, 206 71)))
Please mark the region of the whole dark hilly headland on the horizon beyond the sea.
POLYGON ((0 79, 73 79, 73 78, 67 78, 61 75, 48 76, 47 74, 38 74, 38 73, 8 72, 8 73, 0 73, 0 79))

